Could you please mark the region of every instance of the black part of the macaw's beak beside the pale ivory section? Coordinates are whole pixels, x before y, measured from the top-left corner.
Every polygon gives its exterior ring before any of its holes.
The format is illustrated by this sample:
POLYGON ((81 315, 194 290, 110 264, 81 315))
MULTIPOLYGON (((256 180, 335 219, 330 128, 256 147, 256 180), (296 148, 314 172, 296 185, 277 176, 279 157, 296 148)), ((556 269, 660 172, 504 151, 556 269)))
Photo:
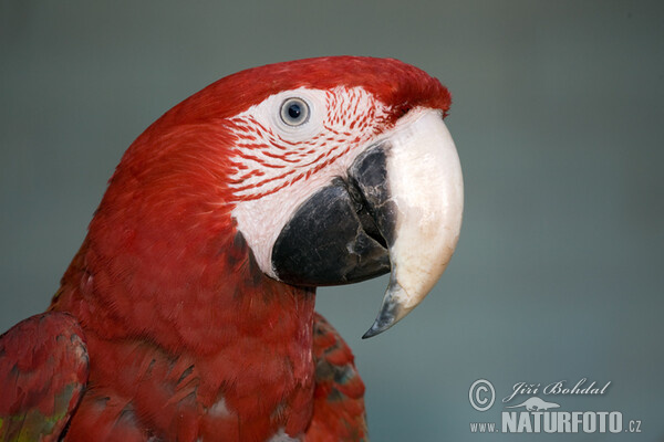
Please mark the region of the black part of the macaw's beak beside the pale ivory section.
POLYGON ((388 199, 385 148, 364 151, 309 198, 272 248, 277 277, 294 285, 355 283, 388 273, 395 215, 388 199))

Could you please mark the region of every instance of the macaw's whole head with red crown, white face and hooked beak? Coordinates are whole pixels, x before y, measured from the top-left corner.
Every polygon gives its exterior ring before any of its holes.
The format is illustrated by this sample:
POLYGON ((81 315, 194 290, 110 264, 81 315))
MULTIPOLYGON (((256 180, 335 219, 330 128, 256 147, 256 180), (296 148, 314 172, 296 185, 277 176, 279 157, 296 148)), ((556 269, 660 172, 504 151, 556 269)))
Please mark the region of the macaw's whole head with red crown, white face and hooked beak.
POLYGON ((291 285, 391 272, 365 337, 376 335, 424 298, 457 243, 463 180, 443 122, 449 105, 436 78, 395 60, 322 57, 230 75, 132 145, 91 232, 122 207, 136 222, 107 234, 129 243, 149 225, 155 259, 174 227, 205 225, 195 235, 209 241, 188 248, 215 246, 214 232, 232 229, 251 265, 291 285), (160 224, 170 233, 159 239, 160 224))

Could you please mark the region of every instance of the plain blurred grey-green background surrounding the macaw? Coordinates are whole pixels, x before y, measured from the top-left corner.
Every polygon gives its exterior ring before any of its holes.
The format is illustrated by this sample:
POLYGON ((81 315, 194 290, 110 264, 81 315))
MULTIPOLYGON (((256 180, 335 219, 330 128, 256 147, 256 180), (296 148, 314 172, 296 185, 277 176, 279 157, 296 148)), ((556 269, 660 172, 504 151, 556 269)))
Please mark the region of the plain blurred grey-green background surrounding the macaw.
POLYGON ((440 78, 466 182, 457 254, 397 327, 360 339, 385 277, 319 291, 354 349, 373 440, 513 440, 469 424, 500 422, 516 382, 582 378, 612 383, 539 397, 621 411, 641 433, 521 438, 663 440, 661 1, 1 0, 0 329, 48 306, 153 120, 227 74, 329 54, 440 78), (468 399, 481 378, 486 412, 468 399))

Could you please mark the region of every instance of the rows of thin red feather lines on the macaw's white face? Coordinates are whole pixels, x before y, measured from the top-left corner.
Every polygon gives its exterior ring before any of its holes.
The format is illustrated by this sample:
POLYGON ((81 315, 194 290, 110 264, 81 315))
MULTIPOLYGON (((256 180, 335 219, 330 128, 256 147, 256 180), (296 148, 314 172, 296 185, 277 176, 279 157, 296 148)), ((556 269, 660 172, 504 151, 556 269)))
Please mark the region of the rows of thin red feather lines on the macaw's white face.
POLYGON ((230 119, 240 140, 232 157, 237 171, 229 182, 234 200, 260 199, 307 179, 390 125, 391 109, 362 88, 335 87, 324 98, 324 108, 317 109, 324 113, 320 131, 299 143, 266 128, 250 112, 230 119), (246 135, 256 136, 245 141, 249 138, 246 135), (256 170, 261 173, 255 173, 256 170))

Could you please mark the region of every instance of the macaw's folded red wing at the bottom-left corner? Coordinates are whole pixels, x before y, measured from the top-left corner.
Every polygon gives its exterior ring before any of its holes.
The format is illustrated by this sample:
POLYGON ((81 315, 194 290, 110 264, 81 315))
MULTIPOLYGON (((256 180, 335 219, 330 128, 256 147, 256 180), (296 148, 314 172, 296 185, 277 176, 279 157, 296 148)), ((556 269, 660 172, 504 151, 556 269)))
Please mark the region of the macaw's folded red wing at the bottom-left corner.
POLYGON ((68 314, 32 316, 0 336, 0 440, 58 441, 87 381, 83 330, 68 314))

